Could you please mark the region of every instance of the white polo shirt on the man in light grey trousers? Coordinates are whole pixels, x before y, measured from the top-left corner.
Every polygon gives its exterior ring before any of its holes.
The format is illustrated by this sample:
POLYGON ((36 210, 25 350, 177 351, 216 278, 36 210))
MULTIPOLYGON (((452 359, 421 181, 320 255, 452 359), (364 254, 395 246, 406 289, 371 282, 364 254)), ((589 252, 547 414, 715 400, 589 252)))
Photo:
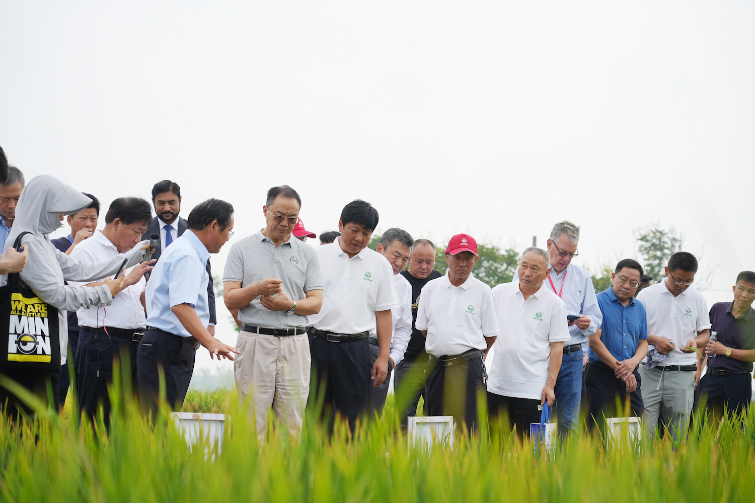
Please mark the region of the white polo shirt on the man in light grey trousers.
MULTIPOLYGON (((683 353, 683 348, 689 339, 695 339, 698 332, 710 328, 707 302, 702 293, 692 287, 684 290, 678 296, 668 291, 668 278, 656 283, 652 287, 643 288, 637 300, 645 305, 648 316, 648 334, 667 337, 673 340, 676 349, 671 351, 658 366, 667 365, 695 365, 695 353, 683 353)), ((648 351, 655 349, 648 345, 648 351)), ((643 359, 643 362, 647 357, 643 359)))

